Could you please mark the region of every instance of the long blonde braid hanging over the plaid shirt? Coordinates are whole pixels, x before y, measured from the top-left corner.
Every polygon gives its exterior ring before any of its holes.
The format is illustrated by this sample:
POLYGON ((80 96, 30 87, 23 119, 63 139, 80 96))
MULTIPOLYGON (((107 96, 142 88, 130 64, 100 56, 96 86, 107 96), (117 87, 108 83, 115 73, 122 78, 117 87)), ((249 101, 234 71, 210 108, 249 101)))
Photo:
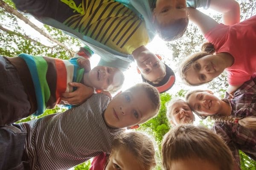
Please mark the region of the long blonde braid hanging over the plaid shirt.
POLYGON ((225 123, 239 123, 239 125, 246 127, 248 129, 256 130, 256 116, 247 116, 244 118, 235 118, 232 116, 219 116, 212 115, 211 119, 215 122, 225 122, 225 123))

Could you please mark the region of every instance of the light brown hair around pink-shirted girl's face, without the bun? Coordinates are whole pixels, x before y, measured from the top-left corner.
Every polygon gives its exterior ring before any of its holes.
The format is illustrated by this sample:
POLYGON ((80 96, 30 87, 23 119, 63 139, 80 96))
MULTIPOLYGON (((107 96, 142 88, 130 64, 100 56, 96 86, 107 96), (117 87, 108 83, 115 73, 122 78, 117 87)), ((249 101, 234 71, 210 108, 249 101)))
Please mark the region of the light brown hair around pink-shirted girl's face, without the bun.
MULTIPOLYGON (((186 73, 187 71, 189 70, 189 68, 191 68, 195 62, 204 57, 204 56, 207 56, 209 55, 209 53, 206 53, 206 52, 198 52, 198 53, 195 53, 193 55, 191 55, 190 57, 188 57, 187 59, 185 59, 181 64, 180 64, 180 68, 179 68, 179 74, 180 74, 180 78, 183 80, 183 82, 186 84, 186 85, 192 85, 192 86, 198 86, 198 85, 203 85, 207 82, 201 82, 201 83, 198 83, 198 84, 191 84, 187 79, 186 79, 186 73)), ((210 80, 212 81, 212 80, 210 80)), ((208 82, 210 82, 208 81, 208 82)))

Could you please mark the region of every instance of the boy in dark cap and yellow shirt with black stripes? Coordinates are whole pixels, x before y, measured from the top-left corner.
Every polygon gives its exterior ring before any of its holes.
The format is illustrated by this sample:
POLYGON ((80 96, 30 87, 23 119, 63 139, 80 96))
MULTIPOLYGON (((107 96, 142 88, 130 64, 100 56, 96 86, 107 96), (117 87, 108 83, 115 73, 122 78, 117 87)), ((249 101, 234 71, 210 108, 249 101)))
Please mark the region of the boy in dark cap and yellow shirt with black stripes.
POLYGON ((79 38, 101 56, 100 65, 127 69, 136 60, 143 81, 167 91, 175 82, 171 68, 145 45, 145 23, 133 11, 114 0, 13 0, 42 23, 79 38))

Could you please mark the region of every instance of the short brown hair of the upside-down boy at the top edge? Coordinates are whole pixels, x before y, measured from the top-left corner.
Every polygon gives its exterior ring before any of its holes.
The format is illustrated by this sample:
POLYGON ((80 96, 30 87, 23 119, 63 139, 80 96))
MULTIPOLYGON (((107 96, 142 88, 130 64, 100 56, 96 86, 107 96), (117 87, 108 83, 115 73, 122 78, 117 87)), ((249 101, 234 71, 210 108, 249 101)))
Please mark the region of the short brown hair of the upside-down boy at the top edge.
POLYGON ((160 23, 156 22, 157 34, 165 41, 177 40, 182 37, 189 24, 189 18, 180 18, 171 22, 168 25, 161 26, 160 23))

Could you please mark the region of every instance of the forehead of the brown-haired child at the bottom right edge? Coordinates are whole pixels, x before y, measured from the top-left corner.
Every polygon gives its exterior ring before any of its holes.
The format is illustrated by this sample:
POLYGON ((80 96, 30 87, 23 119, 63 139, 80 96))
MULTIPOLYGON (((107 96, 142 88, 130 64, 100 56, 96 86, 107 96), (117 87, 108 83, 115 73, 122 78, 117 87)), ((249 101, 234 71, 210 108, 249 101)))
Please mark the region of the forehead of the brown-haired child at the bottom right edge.
POLYGON ((177 160, 170 163, 168 170, 220 170, 218 165, 201 159, 177 160))

